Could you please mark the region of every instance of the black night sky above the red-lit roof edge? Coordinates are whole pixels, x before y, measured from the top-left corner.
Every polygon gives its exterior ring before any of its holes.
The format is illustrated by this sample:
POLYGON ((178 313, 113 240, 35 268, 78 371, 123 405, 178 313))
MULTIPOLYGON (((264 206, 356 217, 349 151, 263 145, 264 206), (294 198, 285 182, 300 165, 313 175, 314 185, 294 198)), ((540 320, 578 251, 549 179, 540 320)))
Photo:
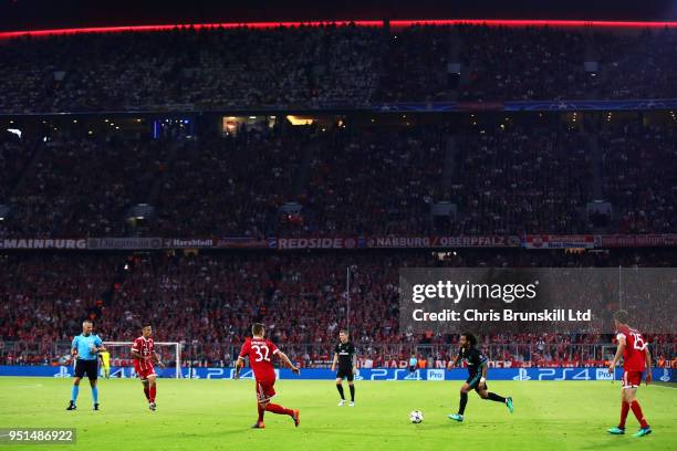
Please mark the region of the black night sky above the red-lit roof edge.
POLYGON ((0 30, 366 19, 677 20, 677 0, 0 0, 0 30))

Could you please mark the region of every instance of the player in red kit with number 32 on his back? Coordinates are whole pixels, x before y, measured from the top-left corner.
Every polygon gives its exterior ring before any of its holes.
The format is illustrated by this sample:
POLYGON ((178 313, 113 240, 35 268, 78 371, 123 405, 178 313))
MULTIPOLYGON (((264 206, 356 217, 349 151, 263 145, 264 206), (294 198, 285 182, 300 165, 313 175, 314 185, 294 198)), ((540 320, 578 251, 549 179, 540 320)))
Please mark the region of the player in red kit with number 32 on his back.
POLYGON ((259 419, 252 428, 265 428, 263 424, 263 413, 267 410, 278 415, 289 415, 298 427, 301 422, 299 409, 285 409, 280 405, 270 403, 270 399, 275 396, 275 368, 272 365, 271 358, 277 355, 295 374, 300 374, 301 370, 271 340, 264 338, 265 329, 262 324, 254 323, 251 327, 251 333, 253 337, 247 338, 240 350, 240 356, 236 364, 235 379, 238 380, 240 378, 240 369, 244 365, 244 357, 249 357, 249 365, 253 370, 257 381, 257 408, 259 410, 259 419))

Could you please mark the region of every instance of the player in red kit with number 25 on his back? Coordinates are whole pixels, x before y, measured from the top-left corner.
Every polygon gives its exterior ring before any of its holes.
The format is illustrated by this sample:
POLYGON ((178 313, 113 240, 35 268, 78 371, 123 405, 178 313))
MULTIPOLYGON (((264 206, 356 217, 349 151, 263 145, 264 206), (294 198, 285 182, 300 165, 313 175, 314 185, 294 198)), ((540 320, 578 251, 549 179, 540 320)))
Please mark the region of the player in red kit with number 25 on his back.
POLYGON ((635 437, 644 437, 652 433, 639 402, 635 399, 637 388, 642 385, 642 373, 646 369, 646 384, 652 381, 652 355, 648 350, 648 343, 644 340, 642 334, 627 325, 628 314, 626 311, 618 311, 614 314, 616 325, 616 339, 618 348, 616 355, 608 366, 608 371, 614 374, 616 364, 623 356, 623 391, 621 396, 621 422, 618 427, 608 429, 610 433, 621 436, 625 433, 625 419, 632 409, 639 421, 639 431, 635 437))

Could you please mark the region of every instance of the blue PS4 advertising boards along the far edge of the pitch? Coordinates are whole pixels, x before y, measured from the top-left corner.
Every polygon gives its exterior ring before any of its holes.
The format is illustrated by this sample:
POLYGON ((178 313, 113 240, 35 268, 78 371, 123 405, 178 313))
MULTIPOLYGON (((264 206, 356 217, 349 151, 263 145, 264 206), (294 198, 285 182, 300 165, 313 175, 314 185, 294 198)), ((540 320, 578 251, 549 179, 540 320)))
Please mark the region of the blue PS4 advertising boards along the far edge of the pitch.
MULTIPOLYGON (((302 368, 301 375, 295 375, 289 369, 275 369, 279 379, 283 380, 334 380, 336 373, 330 369, 302 368)), ((158 368, 158 374, 164 378, 175 377, 175 368, 158 368)), ((185 379, 232 379, 233 368, 181 368, 181 377, 185 379)), ((622 368, 616 368, 615 380, 621 380, 622 368)), ((654 368, 652 373, 655 382, 677 382, 677 370, 671 368, 654 368)), ((32 377, 60 377, 73 376, 72 366, 0 366, 0 376, 32 376, 32 377)), ((132 367, 112 367, 112 379, 135 378, 136 374, 132 367)), ((408 369, 395 368, 363 368, 357 371, 356 380, 466 380, 468 371, 465 368, 455 370, 446 369, 408 369)), ((251 368, 244 368, 240 378, 252 379, 251 368)), ((490 368, 489 380, 607 380, 614 377, 606 367, 592 368, 490 368)))

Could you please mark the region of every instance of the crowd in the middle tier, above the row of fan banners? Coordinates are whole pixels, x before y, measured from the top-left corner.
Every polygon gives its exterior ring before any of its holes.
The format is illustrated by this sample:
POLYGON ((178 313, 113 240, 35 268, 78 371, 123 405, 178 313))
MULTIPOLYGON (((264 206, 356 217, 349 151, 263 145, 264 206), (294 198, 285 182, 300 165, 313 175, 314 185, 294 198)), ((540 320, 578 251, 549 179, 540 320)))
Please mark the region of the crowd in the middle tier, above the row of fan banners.
POLYGON ((0 192, 11 209, 0 237, 592 233, 600 228, 586 206, 595 199, 611 202, 608 233, 676 230, 670 124, 604 124, 598 133, 514 117, 472 124, 7 141, 1 169, 20 181, 0 192), (299 210, 285 211, 289 202, 299 210), (456 213, 434 216, 439 202, 456 213), (129 219, 138 203, 155 212, 140 224, 129 219))

